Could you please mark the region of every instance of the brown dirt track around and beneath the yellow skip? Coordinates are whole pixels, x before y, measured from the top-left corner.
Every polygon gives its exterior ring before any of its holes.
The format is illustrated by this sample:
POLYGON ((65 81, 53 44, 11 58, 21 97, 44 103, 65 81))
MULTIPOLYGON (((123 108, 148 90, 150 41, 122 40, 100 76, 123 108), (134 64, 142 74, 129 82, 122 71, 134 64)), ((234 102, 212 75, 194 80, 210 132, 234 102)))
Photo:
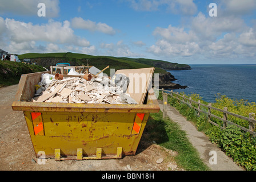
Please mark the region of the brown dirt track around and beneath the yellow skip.
MULTIPOLYGON (((65 160, 56 162, 54 159, 46 159, 46 164, 39 165, 23 112, 13 111, 11 108, 17 87, 18 85, 0 88, 0 170, 2 171, 165 171, 171 170, 170 166, 175 166, 173 155, 162 147, 153 144, 152 141, 146 140, 141 140, 135 156, 124 156, 118 160, 65 160), (163 162, 158 164, 157 160, 160 158, 163 159, 163 162)), ((174 170, 182 169, 175 168, 174 170)))

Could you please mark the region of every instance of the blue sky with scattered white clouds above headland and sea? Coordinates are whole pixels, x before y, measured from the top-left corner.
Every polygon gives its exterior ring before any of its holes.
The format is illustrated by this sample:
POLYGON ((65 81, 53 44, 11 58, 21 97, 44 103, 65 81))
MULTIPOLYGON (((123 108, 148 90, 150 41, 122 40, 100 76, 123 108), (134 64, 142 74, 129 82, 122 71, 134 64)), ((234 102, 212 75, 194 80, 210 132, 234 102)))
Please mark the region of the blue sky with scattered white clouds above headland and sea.
POLYGON ((1 0, 0 48, 256 64, 255 10, 255 0, 1 0))

